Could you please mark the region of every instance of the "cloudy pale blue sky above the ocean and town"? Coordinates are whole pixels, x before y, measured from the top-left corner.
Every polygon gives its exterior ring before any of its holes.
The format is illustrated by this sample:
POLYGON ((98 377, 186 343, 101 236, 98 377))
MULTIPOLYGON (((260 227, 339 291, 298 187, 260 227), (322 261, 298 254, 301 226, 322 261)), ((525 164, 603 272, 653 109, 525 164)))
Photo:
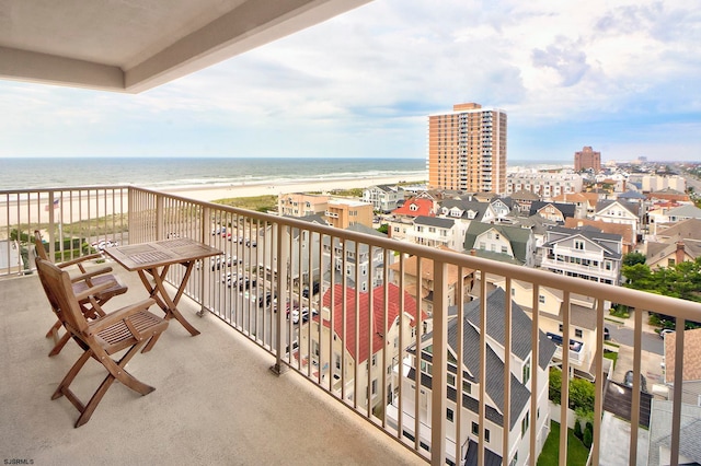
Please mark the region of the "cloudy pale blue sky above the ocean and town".
POLYGON ((699 44, 688 0, 375 0, 137 95, 0 81, 0 158, 425 159, 475 102, 509 161, 701 161, 699 44))

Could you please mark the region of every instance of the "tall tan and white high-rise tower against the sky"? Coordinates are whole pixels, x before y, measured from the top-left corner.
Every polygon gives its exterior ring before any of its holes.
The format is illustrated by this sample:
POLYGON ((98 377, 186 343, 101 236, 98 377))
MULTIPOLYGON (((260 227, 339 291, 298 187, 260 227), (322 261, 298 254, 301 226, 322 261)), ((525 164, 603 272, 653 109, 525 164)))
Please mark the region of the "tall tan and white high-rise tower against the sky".
POLYGON ((456 104, 428 117, 428 187, 506 193, 506 113, 456 104))

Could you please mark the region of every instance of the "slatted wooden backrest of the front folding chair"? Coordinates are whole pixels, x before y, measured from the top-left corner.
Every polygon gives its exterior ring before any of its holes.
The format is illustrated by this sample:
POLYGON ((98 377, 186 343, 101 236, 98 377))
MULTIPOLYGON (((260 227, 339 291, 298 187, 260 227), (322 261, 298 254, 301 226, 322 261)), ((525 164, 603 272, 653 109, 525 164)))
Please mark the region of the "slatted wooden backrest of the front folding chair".
POLYGON ((36 258, 36 269, 46 296, 64 326, 83 334, 88 329, 88 321, 76 299, 68 272, 39 257, 36 258))

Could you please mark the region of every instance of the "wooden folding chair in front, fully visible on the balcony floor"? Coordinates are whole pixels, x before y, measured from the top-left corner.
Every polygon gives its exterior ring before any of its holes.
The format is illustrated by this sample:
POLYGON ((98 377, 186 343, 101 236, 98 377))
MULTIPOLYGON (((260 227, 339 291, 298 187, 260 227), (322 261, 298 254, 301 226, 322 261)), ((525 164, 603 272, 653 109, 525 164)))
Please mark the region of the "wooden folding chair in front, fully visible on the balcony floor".
POLYGON ((80 302, 88 300, 95 310, 100 304, 95 295, 108 289, 112 283, 103 283, 91 287, 80 294, 76 294, 67 271, 59 269, 49 260, 36 259, 42 286, 50 296, 51 307, 57 311, 57 316, 66 330, 83 349, 83 354, 76 361, 54 392, 51 399, 66 398, 80 411, 76 427, 80 427, 90 420, 95 408, 102 400, 113 382, 119 381, 133 391, 147 395, 153 392, 153 387, 135 378, 125 366, 129 360, 151 338, 157 338, 168 327, 168 321, 148 312, 156 303, 148 299, 111 312, 107 315, 88 321, 83 314, 80 302), (126 350, 119 360, 112 359, 112 354, 126 350), (107 371, 107 376, 97 387, 88 404, 83 404, 70 389, 82 366, 90 358, 100 362, 107 371))

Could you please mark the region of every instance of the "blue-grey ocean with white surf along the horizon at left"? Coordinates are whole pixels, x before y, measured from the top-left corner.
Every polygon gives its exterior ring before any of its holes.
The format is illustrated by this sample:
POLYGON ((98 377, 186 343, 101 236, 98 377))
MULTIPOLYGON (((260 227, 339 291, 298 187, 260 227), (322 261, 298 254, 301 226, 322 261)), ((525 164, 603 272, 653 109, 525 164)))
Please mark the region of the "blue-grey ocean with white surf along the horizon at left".
POLYGON ((151 189, 426 175, 424 159, 0 159, 0 190, 133 185, 151 189))

